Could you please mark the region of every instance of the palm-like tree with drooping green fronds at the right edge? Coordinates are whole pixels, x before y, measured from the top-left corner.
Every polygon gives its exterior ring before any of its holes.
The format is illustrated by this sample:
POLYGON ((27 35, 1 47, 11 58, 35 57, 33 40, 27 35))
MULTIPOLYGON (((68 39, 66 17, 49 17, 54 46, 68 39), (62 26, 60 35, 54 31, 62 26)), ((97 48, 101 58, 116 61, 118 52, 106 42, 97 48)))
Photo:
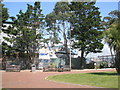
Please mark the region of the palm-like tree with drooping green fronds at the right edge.
POLYGON ((118 74, 120 75, 120 25, 119 23, 113 23, 104 32, 105 41, 108 43, 110 49, 114 50, 116 55, 115 66, 118 74))

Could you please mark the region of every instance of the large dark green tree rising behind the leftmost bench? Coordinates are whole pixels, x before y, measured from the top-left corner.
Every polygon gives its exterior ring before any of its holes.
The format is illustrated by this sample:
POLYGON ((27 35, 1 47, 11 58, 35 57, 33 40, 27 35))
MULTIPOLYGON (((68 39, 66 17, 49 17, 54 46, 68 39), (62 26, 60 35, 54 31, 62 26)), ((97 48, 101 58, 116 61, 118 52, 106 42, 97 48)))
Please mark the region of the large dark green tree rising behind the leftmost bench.
POLYGON ((27 4, 25 13, 20 10, 19 14, 11 17, 13 25, 9 28, 11 38, 8 39, 13 48, 13 52, 18 54, 19 61, 23 61, 25 68, 30 68, 34 63, 38 51, 39 42, 42 38, 39 33, 43 24, 43 14, 41 14, 40 2, 35 2, 34 6, 27 4))

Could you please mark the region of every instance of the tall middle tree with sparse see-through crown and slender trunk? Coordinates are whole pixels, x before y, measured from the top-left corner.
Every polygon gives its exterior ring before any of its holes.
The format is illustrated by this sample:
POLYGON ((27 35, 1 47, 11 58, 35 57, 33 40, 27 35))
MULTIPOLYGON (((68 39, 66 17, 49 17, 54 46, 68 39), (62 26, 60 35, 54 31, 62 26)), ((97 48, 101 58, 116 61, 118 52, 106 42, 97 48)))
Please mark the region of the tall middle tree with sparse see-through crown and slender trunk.
POLYGON ((66 53, 66 64, 69 64, 68 32, 70 31, 70 8, 68 2, 57 2, 53 12, 46 16, 47 31, 51 34, 52 46, 63 40, 66 53))

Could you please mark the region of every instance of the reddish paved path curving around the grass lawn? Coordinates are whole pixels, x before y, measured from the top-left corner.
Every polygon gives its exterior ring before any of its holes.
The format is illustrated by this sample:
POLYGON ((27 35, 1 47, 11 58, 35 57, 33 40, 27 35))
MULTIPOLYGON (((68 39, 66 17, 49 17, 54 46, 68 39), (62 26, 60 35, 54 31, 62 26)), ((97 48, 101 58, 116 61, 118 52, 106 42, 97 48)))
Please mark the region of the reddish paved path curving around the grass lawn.
POLYGON ((87 85, 67 84, 48 81, 45 78, 50 75, 68 73, 89 73, 115 71, 115 69, 104 70, 76 70, 71 72, 2 72, 2 88, 97 88, 87 85))

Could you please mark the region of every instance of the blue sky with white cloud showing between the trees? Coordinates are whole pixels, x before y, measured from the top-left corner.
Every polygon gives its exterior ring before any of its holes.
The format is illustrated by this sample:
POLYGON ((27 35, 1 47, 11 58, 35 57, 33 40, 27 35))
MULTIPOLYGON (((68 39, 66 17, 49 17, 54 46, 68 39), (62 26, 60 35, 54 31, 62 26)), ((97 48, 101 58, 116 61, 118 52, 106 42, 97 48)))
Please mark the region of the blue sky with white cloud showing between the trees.
MULTIPOLYGON (((5 0, 6 1, 6 0, 5 0)), ((9 0, 8 0, 9 1, 9 0)), ((27 8, 27 4, 31 4, 33 5, 33 2, 3 2, 5 4, 5 7, 8 8, 8 12, 10 16, 16 16, 20 10, 22 10, 23 12, 26 11, 27 8)), ((115 0, 112 0, 115 1, 115 0)), ((95 4, 95 6, 99 7, 99 11, 101 12, 101 16, 102 18, 105 16, 108 16, 108 13, 110 11, 113 10, 118 10, 118 2, 112 2, 112 1, 107 1, 107 2, 97 2, 95 4)), ((42 9, 42 13, 44 15, 49 14, 50 12, 52 12, 54 5, 56 2, 41 2, 41 9, 42 9)), ((89 54, 87 57, 97 57, 100 55, 109 55, 110 51, 109 51, 109 47, 107 44, 104 44, 104 48, 102 50, 102 53, 98 53, 98 54, 89 54)))

